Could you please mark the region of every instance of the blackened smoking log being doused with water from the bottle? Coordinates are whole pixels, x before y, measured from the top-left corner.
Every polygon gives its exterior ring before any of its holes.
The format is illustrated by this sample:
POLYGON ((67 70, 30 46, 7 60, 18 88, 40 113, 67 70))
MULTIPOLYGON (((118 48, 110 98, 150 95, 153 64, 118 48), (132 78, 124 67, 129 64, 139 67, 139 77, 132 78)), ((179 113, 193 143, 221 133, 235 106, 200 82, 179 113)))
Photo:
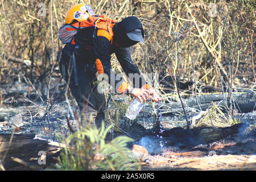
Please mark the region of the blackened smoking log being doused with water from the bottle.
POLYGON ((246 125, 239 123, 229 127, 205 127, 203 129, 184 129, 175 127, 164 130, 161 137, 146 136, 138 144, 147 148, 149 154, 159 154, 165 147, 179 147, 191 149, 199 144, 207 144, 222 138, 241 133, 246 125))

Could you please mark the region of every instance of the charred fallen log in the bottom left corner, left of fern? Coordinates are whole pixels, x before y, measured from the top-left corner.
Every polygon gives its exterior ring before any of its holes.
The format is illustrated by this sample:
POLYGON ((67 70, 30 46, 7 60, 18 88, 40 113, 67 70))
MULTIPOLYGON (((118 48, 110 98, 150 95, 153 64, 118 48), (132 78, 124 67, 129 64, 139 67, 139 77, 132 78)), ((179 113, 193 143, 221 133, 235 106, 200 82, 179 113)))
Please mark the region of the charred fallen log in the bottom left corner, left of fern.
POLYGON ((60 147, 35 134, 0 134, 0 164, 7 170, 19 167, 36 170, 49 166, 60 147), (55 145, 55 146, 54 146, 55 145))

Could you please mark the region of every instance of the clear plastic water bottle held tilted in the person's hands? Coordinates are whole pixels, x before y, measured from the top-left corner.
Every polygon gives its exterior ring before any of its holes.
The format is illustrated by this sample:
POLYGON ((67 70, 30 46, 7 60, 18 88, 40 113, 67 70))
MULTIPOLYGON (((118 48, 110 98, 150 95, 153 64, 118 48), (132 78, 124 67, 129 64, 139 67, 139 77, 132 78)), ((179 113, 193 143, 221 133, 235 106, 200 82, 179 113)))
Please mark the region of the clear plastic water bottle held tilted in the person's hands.
POLYGON ((125 116, 129 119, 137 118, 137 115, 142 110, 144 104, 145 104, 145 101, 143 99, 141 103, 137 97, 134 97, 133 100, 131 100, 130 106, 126 110, 125 116))

